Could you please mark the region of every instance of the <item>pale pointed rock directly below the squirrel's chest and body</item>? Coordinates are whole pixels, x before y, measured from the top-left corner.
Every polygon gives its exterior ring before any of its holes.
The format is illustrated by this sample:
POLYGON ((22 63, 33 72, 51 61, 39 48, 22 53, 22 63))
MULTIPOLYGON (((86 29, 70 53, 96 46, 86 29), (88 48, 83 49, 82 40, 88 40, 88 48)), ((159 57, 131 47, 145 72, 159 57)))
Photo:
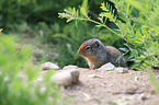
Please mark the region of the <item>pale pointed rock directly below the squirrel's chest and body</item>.
POLYGON ((111 62, 103 65, 101 68, 99 68, 99 71, 112 71, 114 70, 116 67, 114 65, 112 65, 111 62))

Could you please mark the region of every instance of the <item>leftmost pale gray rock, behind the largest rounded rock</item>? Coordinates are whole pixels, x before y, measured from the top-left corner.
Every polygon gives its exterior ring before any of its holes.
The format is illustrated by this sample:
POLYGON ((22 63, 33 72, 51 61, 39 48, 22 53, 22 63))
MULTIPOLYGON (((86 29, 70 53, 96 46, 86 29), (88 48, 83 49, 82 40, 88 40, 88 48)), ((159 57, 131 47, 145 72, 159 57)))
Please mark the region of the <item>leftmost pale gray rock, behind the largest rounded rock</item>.
POLYGON ((50 70, 50 69, 54 69, 54 70, 57 70, 59 69, 59 67, 53 62, 45 62, 42 65, 42 70, 50 70))

